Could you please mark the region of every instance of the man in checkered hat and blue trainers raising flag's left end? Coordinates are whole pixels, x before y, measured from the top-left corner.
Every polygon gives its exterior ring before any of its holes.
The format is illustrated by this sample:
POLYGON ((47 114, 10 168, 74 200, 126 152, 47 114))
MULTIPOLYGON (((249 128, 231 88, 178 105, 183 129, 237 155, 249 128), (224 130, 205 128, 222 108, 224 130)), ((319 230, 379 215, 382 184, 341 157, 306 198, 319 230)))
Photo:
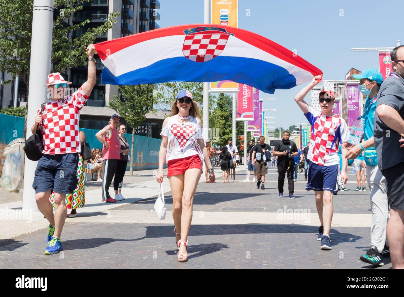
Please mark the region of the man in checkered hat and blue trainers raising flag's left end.
POLYGON ((97 81, 94 62, 94 45, 87 47, 87 81, 72 95, 65 96, 66 87, 72 82, 64 80, 59 73, 48 75, 50 99, 43 111, 38 110, 32 133, 41 129, 44 150, 35 170, 35 199, 39 211, 49 221, 45 255, 56 254, 63 250, 61 233, 67 215, 66 194, 72 193, 77 186, 78 153, 81 152, 79 136, 80 110, 97 81), (55 215, 49 201, 52 190, 55 192, 55 215))

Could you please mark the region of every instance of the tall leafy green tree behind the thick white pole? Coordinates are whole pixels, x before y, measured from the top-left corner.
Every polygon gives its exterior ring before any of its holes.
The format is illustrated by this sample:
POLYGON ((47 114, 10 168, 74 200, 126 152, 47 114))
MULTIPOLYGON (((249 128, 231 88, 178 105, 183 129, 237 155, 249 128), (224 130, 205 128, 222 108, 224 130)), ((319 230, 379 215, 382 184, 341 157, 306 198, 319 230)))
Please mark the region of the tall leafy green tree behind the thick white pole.
MULTIPOLYGON (((86 47, 93 43, 96 36, 103 35, 116 23, 120 12, 110 13, 108 20, 96 28, 88 28, 73 41, 68 36, 76 30, 84 29, 90 20, 69 25, 67 19, 83 9, 84 2, 91 0, 55 0, 54 10, 57 12, 53 22, 52 56, 53 72, 65 72, 69 68, 87 65, 86 47)), ((19 76, 29 89, 29 64, 31 62, 32 8, 33 0, 0 0, 0 71, 19 76)), ((4 81, 9 84, 11 80, 4 81)), ((28 105, 28 102, 27 102, 28 105)), ((28 106, 27 106, 28 109, 28 106)), ((26 127, 26 116, 25 116, 26 127)), ((24 128, 24 135, 25 135, 24 128)))

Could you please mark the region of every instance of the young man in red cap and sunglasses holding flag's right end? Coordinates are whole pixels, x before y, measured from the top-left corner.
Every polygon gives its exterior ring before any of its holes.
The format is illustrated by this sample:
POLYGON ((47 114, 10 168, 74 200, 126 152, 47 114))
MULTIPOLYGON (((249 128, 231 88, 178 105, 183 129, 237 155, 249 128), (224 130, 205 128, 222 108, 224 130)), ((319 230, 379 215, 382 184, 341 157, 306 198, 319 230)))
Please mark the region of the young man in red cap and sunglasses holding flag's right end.
POLYGON ((309 165, 308 182, 306 190, 314 190, 316 194, 316 207, 320 218, 317 240, 321 241, 322 250, 330 250, 330 229, 333 214, 332 196, 337 195, 338 180, 347 182, 346 150, 342 149, 342 171, 339 177, 339 143, 347 142, 349 130, 347 123, 332 112, 334 104, 333 91, 321 91, 318 100, 320 111, 314 110, 303 99, 309 91, 322 79, 322 75, 315 76, 311 83, 301 90, 295 97, 297 105, 301 108, 311 124, 310 148, 307 158, 309 165))

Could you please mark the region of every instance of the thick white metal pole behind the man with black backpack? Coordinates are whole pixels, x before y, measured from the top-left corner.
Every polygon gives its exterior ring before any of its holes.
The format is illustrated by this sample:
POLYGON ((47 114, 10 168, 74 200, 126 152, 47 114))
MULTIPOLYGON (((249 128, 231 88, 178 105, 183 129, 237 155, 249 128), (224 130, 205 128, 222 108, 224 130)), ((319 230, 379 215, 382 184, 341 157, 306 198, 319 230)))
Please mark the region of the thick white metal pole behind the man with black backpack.
MULTIPOLYGON (((45 102, 48 89, 46 78, 50 73, 52 45, 53 0, 34 0, 32 12, 31 61, 29 64, 29 99, 27 101, 27 138, 39 106, 45 102)), ((23 209, 38 211, 35 191, 32 188, 37 162, 25 157, 23 209)))

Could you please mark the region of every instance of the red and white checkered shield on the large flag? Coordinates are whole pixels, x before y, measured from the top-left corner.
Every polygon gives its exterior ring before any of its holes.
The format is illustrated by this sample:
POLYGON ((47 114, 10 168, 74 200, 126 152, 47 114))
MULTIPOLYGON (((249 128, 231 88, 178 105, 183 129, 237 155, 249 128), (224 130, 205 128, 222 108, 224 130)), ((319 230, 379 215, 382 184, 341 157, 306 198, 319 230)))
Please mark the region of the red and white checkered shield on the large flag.
POLYGON ((219 33, 186 35, 182 52, 194 62, 206 62, 220 55, 228 39, 229 34, 219 33))

